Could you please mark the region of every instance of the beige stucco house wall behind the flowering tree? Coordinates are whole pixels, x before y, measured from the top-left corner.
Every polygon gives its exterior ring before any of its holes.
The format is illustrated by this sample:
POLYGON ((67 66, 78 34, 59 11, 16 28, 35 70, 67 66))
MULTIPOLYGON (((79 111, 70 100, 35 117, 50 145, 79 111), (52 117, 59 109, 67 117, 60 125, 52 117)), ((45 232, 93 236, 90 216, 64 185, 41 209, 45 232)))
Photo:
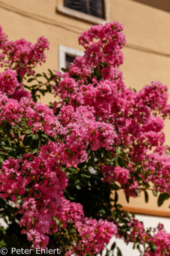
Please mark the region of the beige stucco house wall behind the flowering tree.
MULTIPOLYGON (((59 44, 83 50, 78 45, 77 37, 81 31, 94 24, 57 11, 57 3, 61 1, 0 1, 0 24, 4 32, 9 35, 9 39, 25 38, 33 43, 41 35, 49 39, 50 51, 47 52, 47 62, 39 68, 40 71, 46 71, 48 68, 58 70, 59 44)), ((124 25, 127 47, 123 50, 125 60, 121 70, 126 85, 139 90, 145 84, 150 84, 152 80, 160 80, 170 87, 170 56, 168 56, 170 55, 170 13, 142 4, 139 0, 106 1, 107 21, 118 20, 124 25)), ((164 9, 167 4, 169 10, 170 2, 167 0, 162 2, 164 9)), ((44 103, 51 100, 50 95, 42 99, 44 103)), ((166 138, 170 144, 169 127, 170 121, 166 121, 166 138)), ((124 198, 120 202, 125 204, 124 198)), ((141 202, 137 203, 137 200, 133 201, 134 206, 140 204, 141 202)), ((149 206, 147 205, 146 209, 147 207, 149 206)), ((150 207, 156 208, 156 205, 150 207)), ((167 205, 164 208, 167 210, 167 205)))

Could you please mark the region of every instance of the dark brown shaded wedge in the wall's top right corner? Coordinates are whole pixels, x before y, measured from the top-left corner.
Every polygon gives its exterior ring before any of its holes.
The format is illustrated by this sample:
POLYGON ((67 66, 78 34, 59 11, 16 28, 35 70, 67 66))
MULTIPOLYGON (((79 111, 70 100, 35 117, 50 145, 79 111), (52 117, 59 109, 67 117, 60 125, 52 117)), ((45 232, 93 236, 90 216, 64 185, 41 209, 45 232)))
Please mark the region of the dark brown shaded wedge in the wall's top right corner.
POLYGON ((150 5, 154 8, 170 12, 170 0, 132 0, 143 4, 150 5))

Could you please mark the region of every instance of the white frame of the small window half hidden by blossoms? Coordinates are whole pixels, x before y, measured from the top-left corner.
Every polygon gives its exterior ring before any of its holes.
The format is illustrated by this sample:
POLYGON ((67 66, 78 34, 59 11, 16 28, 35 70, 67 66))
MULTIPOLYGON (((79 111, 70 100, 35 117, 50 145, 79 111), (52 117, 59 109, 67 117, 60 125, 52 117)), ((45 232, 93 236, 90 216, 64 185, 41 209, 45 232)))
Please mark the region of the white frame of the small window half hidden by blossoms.
POLYGON ((70 48, 64 45, 59 44, 59 70, 60 72, 62 72, 62 68, 66 68, 66 55, 72 55, 72 56, 83 56, 84 52, 74 49, 74 48, 70 48))

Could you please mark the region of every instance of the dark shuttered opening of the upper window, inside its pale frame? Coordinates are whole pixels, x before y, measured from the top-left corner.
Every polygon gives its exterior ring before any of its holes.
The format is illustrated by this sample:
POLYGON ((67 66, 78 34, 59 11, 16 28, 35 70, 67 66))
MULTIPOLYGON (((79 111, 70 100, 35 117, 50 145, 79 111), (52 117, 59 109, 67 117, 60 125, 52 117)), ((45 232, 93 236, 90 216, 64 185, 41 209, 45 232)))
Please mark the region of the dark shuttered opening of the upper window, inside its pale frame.
POLYGON ((64 6, 101 19, 105 19, 103 0, 64 0, 64 6))

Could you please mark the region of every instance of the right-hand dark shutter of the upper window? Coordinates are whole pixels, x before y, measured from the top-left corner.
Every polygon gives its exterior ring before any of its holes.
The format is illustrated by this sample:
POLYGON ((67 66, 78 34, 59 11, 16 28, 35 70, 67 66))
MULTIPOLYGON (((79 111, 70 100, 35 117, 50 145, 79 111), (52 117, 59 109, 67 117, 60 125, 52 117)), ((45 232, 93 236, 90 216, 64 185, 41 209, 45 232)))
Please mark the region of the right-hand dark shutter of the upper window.
POLYGON ((89 0, 88 14, 104 19, 103 0, 89 0))

